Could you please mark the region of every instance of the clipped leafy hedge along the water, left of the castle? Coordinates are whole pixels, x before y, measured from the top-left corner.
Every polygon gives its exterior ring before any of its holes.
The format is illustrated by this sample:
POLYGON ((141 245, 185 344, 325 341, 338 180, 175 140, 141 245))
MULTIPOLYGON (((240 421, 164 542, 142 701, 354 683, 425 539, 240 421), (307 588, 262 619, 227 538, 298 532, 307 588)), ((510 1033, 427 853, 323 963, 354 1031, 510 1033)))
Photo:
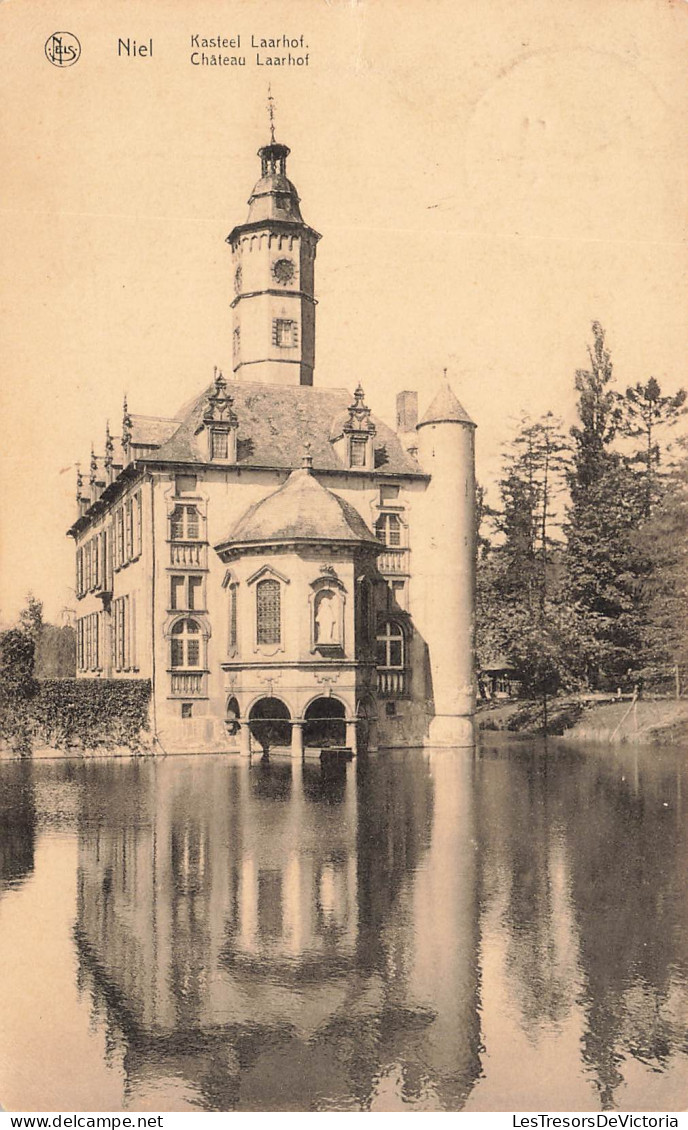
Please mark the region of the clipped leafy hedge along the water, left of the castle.
POLYGON ((17 753, 146 747, 148 679, 40 679, 34 688, 28 698, 2 696, 0 736, 17 753))

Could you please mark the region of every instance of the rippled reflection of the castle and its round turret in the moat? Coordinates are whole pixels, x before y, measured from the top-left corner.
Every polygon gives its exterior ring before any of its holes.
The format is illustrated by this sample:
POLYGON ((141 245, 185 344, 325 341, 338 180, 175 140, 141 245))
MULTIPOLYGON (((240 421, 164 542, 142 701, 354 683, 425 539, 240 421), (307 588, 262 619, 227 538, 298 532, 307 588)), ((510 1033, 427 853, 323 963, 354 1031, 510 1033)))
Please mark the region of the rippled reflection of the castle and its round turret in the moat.
POLYGON ((163 1109, 174 1079, 206 1109, 463 1105, 478 898, 455 757, 94 768, 76 937, 131 1103, 163 1109))

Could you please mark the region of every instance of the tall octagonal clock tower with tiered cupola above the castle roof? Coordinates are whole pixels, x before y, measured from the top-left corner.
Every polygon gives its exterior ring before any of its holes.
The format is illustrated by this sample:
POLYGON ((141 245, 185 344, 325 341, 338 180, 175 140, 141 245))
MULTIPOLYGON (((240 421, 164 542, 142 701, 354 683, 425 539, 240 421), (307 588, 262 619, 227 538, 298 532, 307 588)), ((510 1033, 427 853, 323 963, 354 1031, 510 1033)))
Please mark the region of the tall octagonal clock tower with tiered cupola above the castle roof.
POLYGON ((267 384, 313 384, 315 249, 287 179, 286 145, 259 149, 261 175, 249 217, 227 236, 234 269, 233 363, 237 376, 267 384))

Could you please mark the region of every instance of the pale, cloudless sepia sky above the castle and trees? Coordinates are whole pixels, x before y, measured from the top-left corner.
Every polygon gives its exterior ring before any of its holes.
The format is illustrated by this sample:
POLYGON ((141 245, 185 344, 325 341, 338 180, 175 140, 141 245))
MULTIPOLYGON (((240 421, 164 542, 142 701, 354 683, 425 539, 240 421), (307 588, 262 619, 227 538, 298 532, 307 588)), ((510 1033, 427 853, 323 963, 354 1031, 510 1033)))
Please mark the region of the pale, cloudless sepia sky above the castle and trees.
POLYGON ((685 0, 5 0, 0 41, 1 624, 29 590, 73 606, 75 464, 123 393, 174 415, 230 373, 269 80, 323 236, 317 384, 393 421, 446 366, 495 501, 520 414, 573 421, 592 321, 619 388, 688 383, 685 0), (245 67, 191 64, 237 34, 245 67), (256 66, 252 35, 303 35, 308 66, 256 66))

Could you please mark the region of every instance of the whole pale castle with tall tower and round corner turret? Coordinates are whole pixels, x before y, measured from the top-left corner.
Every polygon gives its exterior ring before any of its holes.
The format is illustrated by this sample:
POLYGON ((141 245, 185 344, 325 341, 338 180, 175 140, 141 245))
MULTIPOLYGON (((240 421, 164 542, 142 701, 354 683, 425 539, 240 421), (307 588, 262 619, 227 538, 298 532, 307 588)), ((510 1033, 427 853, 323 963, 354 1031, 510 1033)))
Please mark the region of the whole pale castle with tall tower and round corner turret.
POLYGON ((167 751, 472 744, 474 425, 314 384, 320 235, 259 150, 233 379, 106 428, 77 480, 78 676, 149 679, 167 751))

